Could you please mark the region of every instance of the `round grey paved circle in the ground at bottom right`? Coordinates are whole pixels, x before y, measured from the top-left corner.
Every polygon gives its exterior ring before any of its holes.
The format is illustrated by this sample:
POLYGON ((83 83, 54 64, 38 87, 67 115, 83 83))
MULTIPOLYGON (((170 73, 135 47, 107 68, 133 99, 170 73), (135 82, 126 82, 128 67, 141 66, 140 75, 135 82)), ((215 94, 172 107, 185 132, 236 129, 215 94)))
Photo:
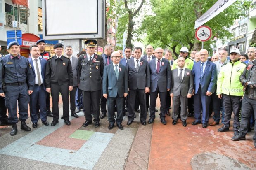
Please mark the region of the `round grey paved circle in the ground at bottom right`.
POLYGON ((191 159, 192 170, 250 170, 246 165, 220 154, 202 153, 191 159))

